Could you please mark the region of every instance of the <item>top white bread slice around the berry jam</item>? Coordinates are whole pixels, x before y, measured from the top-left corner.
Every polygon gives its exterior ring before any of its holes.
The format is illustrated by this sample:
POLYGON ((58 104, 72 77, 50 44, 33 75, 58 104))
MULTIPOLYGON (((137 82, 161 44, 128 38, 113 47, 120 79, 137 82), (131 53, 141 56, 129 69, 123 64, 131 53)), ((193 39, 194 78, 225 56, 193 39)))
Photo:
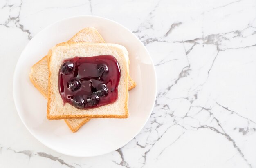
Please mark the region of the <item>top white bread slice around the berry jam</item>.
POLYGON ((127 118, 129 57, 124 46, 110 43, 65 42, 54 46, 48 53, 48 119, 72 118, 127 118), (105 106, 92 109, 77 109, 69 103, 63 104, 58 91, 58 71, 63 60, 72 57, 93 57, 112 55, 119 63, 121 77, 118 85, 118 99, 105 106))

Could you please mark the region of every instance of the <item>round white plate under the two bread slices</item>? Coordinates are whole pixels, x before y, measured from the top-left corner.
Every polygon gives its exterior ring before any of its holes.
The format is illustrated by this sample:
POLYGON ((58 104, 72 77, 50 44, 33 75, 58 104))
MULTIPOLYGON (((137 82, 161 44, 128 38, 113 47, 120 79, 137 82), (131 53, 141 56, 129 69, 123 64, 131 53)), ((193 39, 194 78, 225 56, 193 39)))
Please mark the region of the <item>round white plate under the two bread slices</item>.
MULTIPOLYGON (((121 24, 95 16, 76 16, 58 21, 38 33, 23 50, 13 77, 13 97, 22 122, 38 141, 66 155, 89 157, 121 148, 146 124, 156 97, 153 62, 140 40, 121 24), (137 86, 129 91, 127 119, 91 119, 77 133, 63 120, 46 118, 47 100, 29 80, 31 66, 52 46, 69 40, 85 27, 95 27, 106 42, 126 47, 130 76, 137 86)), ((121 95, 119 95, 121 96, 121 95)))

